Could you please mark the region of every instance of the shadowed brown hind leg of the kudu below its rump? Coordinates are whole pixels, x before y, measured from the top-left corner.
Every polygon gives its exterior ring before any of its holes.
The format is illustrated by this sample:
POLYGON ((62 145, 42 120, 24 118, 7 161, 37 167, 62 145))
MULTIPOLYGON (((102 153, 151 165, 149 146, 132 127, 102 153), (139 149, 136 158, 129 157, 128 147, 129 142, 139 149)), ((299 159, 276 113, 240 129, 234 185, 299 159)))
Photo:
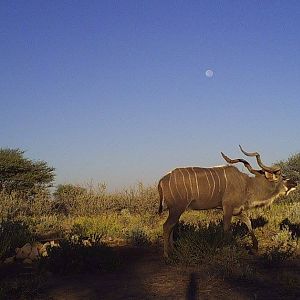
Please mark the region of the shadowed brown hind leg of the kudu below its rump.
POLYGON ((173 250, 173 230, 179 218, 181 216, 181 211, 176 211, 173 209, 169 209, 169 216, 166 222, 163 225, 164 231, 164 256, 169 257, 170 251, 173 250))

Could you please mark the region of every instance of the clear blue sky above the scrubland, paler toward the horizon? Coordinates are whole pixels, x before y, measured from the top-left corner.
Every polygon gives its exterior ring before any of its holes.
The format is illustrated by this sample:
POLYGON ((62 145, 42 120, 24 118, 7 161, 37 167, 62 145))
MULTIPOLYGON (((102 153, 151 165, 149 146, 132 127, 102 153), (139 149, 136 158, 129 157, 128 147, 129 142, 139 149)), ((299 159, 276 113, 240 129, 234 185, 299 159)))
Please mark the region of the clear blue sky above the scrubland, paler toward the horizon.
POLYGON ((272 163, 299 117, 300 1, 0 2, 0 147, 56 183, 151 184, 238 144, 272 163))

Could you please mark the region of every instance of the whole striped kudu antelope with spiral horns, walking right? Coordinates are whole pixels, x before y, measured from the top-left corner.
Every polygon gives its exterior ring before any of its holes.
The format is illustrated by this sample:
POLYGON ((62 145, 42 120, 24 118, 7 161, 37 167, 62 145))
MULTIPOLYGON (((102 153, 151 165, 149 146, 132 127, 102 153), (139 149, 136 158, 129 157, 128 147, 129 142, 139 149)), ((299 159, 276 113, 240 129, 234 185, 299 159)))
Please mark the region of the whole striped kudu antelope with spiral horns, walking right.
POLYGON ((206 210, 223 209, 224 232, 230 228, 232 216, 246 224, 251 234, 253 248, 258 249, 251 221, 245 210, 269 206, 280 195, 287 195, 296 188, 296 183, 287 179, 279 167, 264 165, 257 152, 246 156, 255 156, 261 169, 256 170, 244 159, 230 159, 223 152, 223 158, 229 164, 241 162, 255 176, 249 176, 231 165, 199 168, 177 168, 160 179, 159 213, 163 203, 169 210, 169 216, 163 225, 164 256, 168 257, 173 249, 173 229, 181 214, 187 209, 206 210))

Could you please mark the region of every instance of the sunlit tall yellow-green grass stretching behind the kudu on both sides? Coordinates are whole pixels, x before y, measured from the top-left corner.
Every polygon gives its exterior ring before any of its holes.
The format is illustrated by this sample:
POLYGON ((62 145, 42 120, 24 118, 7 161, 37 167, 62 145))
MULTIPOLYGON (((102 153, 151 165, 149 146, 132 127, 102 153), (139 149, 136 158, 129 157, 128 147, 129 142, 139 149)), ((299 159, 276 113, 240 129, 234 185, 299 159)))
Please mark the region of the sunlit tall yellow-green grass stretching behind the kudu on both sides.
MULTIPOLYGON (((157 214, 159 198, 156 186, 144 186, 139 183, 134 187, 110 193, 106 185, 99 184, 80 186, 78 189, 80 192, 74 193, 74 191, 76 189, 60 195, 59 198, 40 192, 31 200, 22 199, 15 194, 2 193, 0 194, 0 220, 3 220, 2 224, 6 221, 21 222, 27 226, 32 236, 57 232, 62 237, 67 237, 77 232, 86 236, 101 234, 105 240, 131 240, 136 244, 139 243, 137 239, 141 240, 140 244, 146 243, 146 240, 157 242, 162 239, 162 224, 166 219, 166 212, 162 216, 157 214), (60 210, 59 207, 62 206, 65 209, 60 210)), ((292 250, 289 251, 297 252, 295 248, 299 244, 300 234, 298 199, 300 199, 299 191, 291 193, 287 198, 277 200, 270 209, 256 209, 248 212, 261 249, 269 249, 268 251, 272 252, 281 245, 277 249, 279 251, 285 247, 284 243, 288 243, 292 245, 292 250), (291 236, 287 233, 291 233, 291 236), (292 240, 296 241, 296 244, 292 243, 292 240)), ((217 240, 220 238, 219 235, 222 232, 220 229, 222 211, 220 210, 186 212, 181 220, 186 226, 202 228, 201 230, 204 230, 211 238, 217 240), (211 232, 216 228, 218 228, 216 232, 211 232)), ((243 227, 239 226, 239 228, 243 227)), ((201 240, 199 230, 196 232, 201 240)), ((183 239, 194 238, 181 236, 183 239)), ((20 238, 20 245, 23 242, 21 240, 20 238)), ((205 239, 202 240, 205 241, 205 239)), ((251 243, 246 233, 244 241, 245 244, 251 243)), ((183 245, 185 242, 182 240, 182 242, 179 241, 180 243, 183 245)), ((6 250, 0 251, 3 256, 3 253, 7 253, 9 249, 7 245, 1 247, 3 249, 6 247, 6 250)), ((204 246, 201 247, 204 251, 204 246)), ((203 252, 202 250, 200 252, 203 252)))

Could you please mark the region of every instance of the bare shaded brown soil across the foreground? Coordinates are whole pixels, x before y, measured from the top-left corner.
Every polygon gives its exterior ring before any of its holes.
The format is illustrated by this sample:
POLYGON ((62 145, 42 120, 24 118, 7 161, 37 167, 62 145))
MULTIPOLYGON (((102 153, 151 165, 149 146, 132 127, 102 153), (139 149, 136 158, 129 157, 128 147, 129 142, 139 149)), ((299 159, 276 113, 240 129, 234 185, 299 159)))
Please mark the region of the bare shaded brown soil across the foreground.
MULTIPOLYGON (((253 282, 213 275, 205 266, 166 263, 160 248, 115 247, 124 264, 116 271, 50 277, 43 299, 300 299, 276 281, 279 270, 253 282)), ((295 266, 293 266, 295 268, 295 266)), ((296 266, 295 276, 300 275, 296 266)))

